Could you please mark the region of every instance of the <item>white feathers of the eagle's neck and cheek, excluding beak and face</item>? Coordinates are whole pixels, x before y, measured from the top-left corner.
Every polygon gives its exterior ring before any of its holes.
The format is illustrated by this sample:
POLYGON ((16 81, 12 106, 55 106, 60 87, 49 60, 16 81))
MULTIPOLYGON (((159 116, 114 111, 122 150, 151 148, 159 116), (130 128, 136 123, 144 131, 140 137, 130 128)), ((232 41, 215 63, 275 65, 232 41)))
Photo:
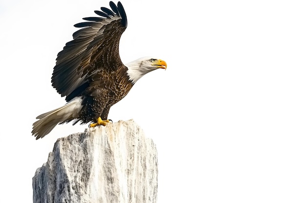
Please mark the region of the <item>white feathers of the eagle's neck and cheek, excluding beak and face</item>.
POLYGON ((152 68, 144 66, 143 60, 141 58, 134 60, 126 64, 125 66, 128 68, 127 74, 133 84, 142 76, 154 70, 152 68))

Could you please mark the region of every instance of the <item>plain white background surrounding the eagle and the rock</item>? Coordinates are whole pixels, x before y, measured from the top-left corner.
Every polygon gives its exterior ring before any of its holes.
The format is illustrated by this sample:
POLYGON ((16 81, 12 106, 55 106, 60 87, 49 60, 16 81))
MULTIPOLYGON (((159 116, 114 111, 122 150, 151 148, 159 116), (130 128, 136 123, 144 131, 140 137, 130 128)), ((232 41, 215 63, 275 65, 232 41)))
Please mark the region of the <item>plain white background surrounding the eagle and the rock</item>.
MULTIPOLYGON (((122 0, 124 63, 165 60, 109 112, 134 119, 158 150, 158 203, 306 202, 303 0, 122 0)), ((35 117, 65 104, 55 58, 107 0, 0 1, 0 203, 32 202, 32 177, 57 138, 35 117)))

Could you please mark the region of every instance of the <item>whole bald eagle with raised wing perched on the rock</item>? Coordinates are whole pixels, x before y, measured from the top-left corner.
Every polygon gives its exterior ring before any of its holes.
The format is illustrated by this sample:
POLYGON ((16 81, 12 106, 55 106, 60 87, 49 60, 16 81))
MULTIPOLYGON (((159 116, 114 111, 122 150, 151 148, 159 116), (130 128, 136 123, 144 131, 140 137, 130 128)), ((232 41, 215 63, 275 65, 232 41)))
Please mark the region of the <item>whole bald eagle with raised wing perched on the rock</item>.
POLYGON ((95 11, 99 17, 83 18, 75 24, 81 28, 59 52, 51 78, 52 86, 66 96, 66 104, 37 116, 32 135, 43 138, 57 124, 74 121, 89 127, 105 126, 109 109, 131 90, 143 75, 166 69, 167 64, 155 57, 142 57, 124 65, 119 56, 119 40, 127 28, 127 16, 119 1, 111 8, 95 11))

